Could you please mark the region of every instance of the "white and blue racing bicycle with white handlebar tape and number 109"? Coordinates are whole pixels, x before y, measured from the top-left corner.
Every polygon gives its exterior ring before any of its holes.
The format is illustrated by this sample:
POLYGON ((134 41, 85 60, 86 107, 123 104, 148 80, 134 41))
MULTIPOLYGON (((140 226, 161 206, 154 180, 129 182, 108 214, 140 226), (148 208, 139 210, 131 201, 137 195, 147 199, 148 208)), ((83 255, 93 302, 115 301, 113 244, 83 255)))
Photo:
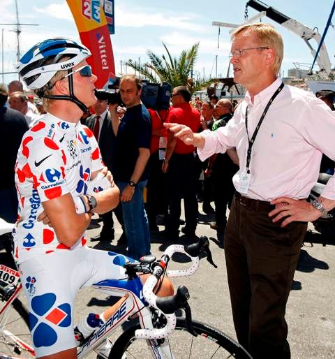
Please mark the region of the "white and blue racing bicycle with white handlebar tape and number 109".
MULTIPOLYGON (((0 222, 0 235, 8 229, 0 222)), ((121 299, 108 309, 109 317, 105 323, 77 346, 78 358, 95 351, 98 359, 142 359, 149 358, 150 354, 151 358, 157 359, 223 359, 232 356, 250 359, 251 356, 234 339, 210 325, 192 320, 189 293, 185 286, 179 286, 170 297, 159 298, 154 294, 155 286, 159 286, 165 274, 168 277, 187 277, 198 270, 200 253, 205 253, 207 261, 216 267, 211 259, 207 237, 200 237, 199 242, 188 246, 171 245, 158 260, 154 256, 145 256, 140 262, 127 261, 124 267, 128 279, 106 279, 94 284, 94 288, 121 299), (191 258, 190 268, 167 270, 174 253, 183 253, 191 258), (150 274, 144 286, 140 274, 150 274), (180 309, 184 309, 185 317, 176 316, 180 309), (112 345, 108 337, 126 322, 128 328, 112 345), (107 353, 106 340, 110 344, 107 353)), ((13 353, 20 358, 34 358, 35 355, 27 339, 30 337, 29 312, 18 298, 22 291, 19 275, 16 270, 0 265, 0 299, 3 303, 0 307, 0 358, 14 358, 13 353), (13 322, 19 319, 24 323, 22 329, 12 332, 13 322), (1 357, 3 348, 8 349, 7 357, 1 357)))

